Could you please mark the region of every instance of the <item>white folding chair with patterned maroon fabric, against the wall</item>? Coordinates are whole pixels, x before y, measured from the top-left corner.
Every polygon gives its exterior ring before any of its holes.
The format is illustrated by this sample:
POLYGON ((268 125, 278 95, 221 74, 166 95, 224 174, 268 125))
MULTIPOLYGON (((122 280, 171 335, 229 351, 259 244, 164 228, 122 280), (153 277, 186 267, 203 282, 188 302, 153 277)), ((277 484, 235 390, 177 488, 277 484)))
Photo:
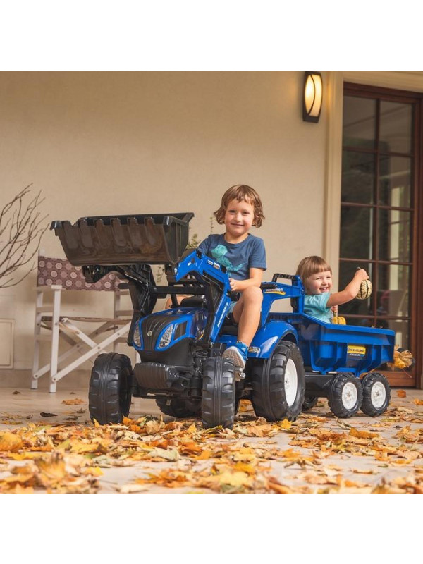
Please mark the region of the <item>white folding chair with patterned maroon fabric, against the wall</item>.
POLYGON ((83 362, 97 357, 107 347, 116 350, 118 343, 125 342, 130 329, 132 309, 121 309, 121 296, 128 290, 119 288, 118 277, 111 273, 97 283, 87 283, 80 266, 73 266, 66 259, 54 259, 39 255, 37 274, 37 302, 35 307, 34 362, 31 388, 38 387, 38 379, 50 374, 50 392, 56 391, 56 383, 83 362), (61 311, 61 293, 64 290, 113 291, 113 317, 75 317, 61 311), (49 296, 51 300, 44 300, 49 296), (47 301, 49 303, 47 303, 47 301), (82 330, 81 326, 91 326, 82 330), (94 329, 93 329, 94 327, 94 329), (50 362, 39 366, 40 343, 51 343, 50 362), (59 353, 61 341, 71 348, 59 353), (80 355, 74 359, 75 353, 80 355), (66 361, 66 362, 64 362, 66 361))

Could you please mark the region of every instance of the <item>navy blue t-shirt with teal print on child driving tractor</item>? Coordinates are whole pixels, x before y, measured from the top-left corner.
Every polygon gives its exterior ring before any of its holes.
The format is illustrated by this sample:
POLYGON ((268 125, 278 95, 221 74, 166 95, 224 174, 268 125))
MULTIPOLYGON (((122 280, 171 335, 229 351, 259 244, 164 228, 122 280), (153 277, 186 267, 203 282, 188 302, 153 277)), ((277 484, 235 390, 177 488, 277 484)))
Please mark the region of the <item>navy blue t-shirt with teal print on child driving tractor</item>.
POLYGON ((248 235, 241 243, 226 243, 224 235, 209 235, 198 250, 226 266, 229 278, 247 280, 250 269, 266 270, 266 250, 263 240, 248 235))

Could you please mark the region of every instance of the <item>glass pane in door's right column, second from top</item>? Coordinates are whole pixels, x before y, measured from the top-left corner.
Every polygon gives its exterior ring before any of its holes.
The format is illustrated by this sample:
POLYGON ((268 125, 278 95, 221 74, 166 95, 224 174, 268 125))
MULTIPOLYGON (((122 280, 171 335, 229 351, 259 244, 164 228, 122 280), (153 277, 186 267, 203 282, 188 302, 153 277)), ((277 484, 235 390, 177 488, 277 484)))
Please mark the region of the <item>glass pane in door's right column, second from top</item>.
POLYGON ((381 157, 379 161, 379 204, 410 207, 411 159, 381 157))

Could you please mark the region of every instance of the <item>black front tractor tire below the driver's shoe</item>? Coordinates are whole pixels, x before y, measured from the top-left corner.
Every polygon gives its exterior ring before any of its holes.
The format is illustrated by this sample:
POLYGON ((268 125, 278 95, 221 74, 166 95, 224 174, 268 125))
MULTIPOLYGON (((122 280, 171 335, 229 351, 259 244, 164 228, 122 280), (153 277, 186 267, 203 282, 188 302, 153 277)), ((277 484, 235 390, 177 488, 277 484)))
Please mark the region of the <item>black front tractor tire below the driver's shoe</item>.
POLYGON ((232 360, 207 358, 203 364, 202 424, 232 429, 235 418, 235 369, 232 360))

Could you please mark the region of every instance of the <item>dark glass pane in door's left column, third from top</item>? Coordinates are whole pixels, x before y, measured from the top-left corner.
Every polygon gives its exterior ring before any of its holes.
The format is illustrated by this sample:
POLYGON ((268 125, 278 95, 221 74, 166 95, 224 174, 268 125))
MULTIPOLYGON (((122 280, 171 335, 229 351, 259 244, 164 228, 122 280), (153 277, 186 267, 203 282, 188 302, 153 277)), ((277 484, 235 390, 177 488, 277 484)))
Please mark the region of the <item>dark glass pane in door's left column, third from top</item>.
POLYGON ((342 205, 341 258, 372 259, 372 230, 371 208, 342 205))

